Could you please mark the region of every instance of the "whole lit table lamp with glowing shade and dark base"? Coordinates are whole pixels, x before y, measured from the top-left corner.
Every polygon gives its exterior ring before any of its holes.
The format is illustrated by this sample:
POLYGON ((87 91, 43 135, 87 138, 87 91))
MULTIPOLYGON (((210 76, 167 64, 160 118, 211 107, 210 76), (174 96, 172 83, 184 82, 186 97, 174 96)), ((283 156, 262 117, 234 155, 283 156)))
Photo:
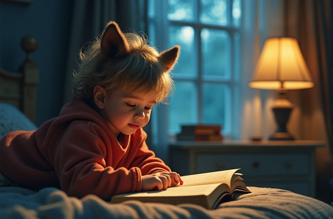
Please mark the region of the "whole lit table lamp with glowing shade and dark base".
POLYGON ((249 87, 278 91, 278 99, 272 107, 278 128, 269 140, 294 140, 286 129, 293 109, 293 104, 286 99, 287 90, 313 87, 309 68, 295 38, 266 39, 249 87))

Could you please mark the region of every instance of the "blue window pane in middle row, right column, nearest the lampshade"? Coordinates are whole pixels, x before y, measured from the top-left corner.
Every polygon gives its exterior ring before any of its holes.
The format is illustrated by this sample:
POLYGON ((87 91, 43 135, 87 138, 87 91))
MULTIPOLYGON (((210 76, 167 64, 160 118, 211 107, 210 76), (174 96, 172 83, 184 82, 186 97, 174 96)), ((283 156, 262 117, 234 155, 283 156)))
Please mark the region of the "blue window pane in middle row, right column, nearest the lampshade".
POLYGON ((227 31, 201 30, 202 73, 230 77, 230 38, 227 31))

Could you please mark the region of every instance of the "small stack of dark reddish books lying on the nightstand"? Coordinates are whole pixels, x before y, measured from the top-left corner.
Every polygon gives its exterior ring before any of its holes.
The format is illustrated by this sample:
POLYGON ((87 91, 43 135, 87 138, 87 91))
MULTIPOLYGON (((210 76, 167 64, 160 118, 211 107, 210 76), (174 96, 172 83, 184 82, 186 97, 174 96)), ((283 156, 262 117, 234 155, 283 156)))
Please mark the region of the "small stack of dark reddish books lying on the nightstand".
POLYGON ((181 141, 222 141, 220 125, 183 125, 177 134, 181 141))

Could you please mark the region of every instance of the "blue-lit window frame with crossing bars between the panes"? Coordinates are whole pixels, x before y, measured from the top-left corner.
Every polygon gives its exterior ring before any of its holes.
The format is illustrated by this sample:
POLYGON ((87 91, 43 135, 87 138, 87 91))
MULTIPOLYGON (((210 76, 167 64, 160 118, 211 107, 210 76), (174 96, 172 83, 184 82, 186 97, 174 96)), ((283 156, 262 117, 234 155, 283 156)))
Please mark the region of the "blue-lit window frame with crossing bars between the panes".
MULTIPOLYGON (((152 1, 152 0, 149 0, 152 1)), ((148 9, 148 39, 153 39, 155 42, 155 46, 157 46, 159 51, 163 51, 168 49, 168 27, 169 25, 175 25, 175 26, 191 26, 194 29, 194 50, 196 51, 195 54, 195 61, 197 63, 196 71, 197 76, 189 76, 189 75, 182 75, 177 73, 172 73, 172 76, 174 80, 177 81, 192 81, 195 83, 197 88, 197 116, 198 116, 198 122, 202 122, 202 102, 203 102, 203 92, 202 92, 202 86, 203 83, 218 83, 218 84, 224 84, 229 87, 230 90, 230 96, 229 100, 226 100, 226 104, 230 104, 229 107, 227 107, 226 114, 225 114, 225 124, 228 124, 227 126, 223 126, 222 134, 225 139, 233 139, 238 134, 238 86, 239 86, 239 67, 238 63, 236 63, 236 42, 235 42, 235 34, 238 34, 238 43, 240 44, 240 26, 234 27, 232 26, 232 0, 227 0, 227 23, 228 25, 222 26, 222 25, 213 25, 213 24, 205 24, 199 22, 199 7, 200 7, 200 0, 197 0, 197 5, 194 8, 194 20, 192 21, 174 21, 174 20, 168 20, 167 14, 168 10, 165 10, 165 8, 168 8, 168 2, 167 0, 154 0, 155 7, 153 10, 153 14, 155 14, 155 17, 152 18, 149 15, 149 9, 148 9), (156 16, 157 15, 157 16, 156 16), (150 32, 150 26, 151 23, 154 23, 155 25, 155 31, 154 33, 150 32), (158 25, 157 25, 158 24, 158 25), (229 75, 230 78, 226 79, 220 76, 207 76, 203 75, 202 73, 202 57, 201 57, 201 30, 203 28, 208 29, 216 29, 216 30, 223 30, 228 32, 229 34, 229 40, 230 40, 230 66, 229 69, 229 75), (153 36, 153 37, 151 37, 153 36), (236 72, 238 71, 238 72, 236 72)), ((239 45, 238 44, 238 51, 239 51, 239 45)), ((238 52, 238 61, 240 60, 240 54, 238 52)), ((155 120, 159 120, 158 124, 165 124, 166 127, 162 128, 162 132, 166 131, 168 133, 169 139, 174 139, 176 133, 169 133, 168 131, 168 107, 166 106, 159 106, 158 107, 158 118, 154 118, 155 120), (162 116, 164 114, 164 116, 162 116), (167 116, 165 116, 167 114, 167 116), (164 118, 162 118, 164 117, 164 118)), ((161 126, 159 126, 159 129, 161 126)))

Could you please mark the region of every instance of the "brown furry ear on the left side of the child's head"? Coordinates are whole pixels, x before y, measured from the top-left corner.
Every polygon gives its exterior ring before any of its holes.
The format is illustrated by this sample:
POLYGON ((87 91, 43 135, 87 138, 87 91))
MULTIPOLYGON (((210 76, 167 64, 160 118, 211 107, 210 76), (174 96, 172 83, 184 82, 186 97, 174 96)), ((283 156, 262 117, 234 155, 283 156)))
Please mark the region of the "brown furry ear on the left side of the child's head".
POLYGON ((104 57, 114 57, 119 52, 127 52, 129 45, 118 23, 109 22, 102 32, 100 48, 104 57))

